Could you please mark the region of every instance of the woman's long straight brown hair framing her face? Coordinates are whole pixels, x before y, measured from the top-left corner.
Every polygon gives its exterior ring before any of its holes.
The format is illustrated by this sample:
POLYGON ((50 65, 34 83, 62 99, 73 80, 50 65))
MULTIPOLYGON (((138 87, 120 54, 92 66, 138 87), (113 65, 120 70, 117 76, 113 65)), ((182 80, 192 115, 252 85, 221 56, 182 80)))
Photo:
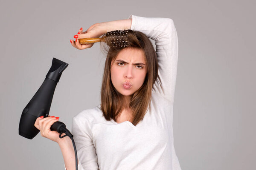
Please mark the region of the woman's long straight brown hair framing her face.
POLYGON ((111 62, 124 48, 142 49, 145 54, 147 73, 143 85, 131 96, 129 103, 133 119, 132 124, 136 126, 145 116, 148 106, 150 109, 151 91, 158 77, 158 62, 154 47, 145 34, 140 31, 128 30, 125 38, 128 40, 128 47, 116 47, 100 43, 101 48, 107 53, 101 88, 101 110, 106 120, 113 119, 116 122, 119 113, 125 108, 125 103, 123 102, 123 95, 114 88, 111 82, 111 62))

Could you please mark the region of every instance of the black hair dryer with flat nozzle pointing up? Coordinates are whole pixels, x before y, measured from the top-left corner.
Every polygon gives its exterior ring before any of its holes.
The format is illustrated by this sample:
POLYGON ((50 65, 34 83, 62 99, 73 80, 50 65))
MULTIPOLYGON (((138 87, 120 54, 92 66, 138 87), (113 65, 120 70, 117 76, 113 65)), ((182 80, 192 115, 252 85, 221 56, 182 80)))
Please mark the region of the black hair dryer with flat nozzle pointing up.
MULTIPOLYGON (((52 66, 43 84, 23 109, 20 117, 19 135, 27 139, 33 139, 39 133, 40 130, 35 127, 35 120, 40 116, 48 116, 56 85, 67 66, 66 62, 56 58, 52 59, 52 66)), ((60 126, 60 122, 55 122, 55 125, 60 126)))

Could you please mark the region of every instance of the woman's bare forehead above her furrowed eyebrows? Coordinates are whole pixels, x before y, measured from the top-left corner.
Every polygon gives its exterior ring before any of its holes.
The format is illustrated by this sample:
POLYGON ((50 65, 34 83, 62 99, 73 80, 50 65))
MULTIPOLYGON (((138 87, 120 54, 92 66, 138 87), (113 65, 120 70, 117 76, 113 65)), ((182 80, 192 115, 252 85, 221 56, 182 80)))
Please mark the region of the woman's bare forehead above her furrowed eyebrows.
POLYGON ((123 59, 127 62, 144 62, 145 54, 140 48, 124 48, 122 49, 116 57, 117 59, 123 59))

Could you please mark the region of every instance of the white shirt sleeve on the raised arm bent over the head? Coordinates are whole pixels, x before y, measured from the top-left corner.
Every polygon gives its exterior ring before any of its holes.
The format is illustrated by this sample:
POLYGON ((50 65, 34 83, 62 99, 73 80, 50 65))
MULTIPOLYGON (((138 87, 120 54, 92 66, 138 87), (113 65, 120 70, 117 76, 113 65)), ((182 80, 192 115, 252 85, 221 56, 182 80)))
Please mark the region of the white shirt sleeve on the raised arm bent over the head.
POLYGON ((173 105, 177 76, 178 38, 173 20, 130 15, 131 30, 143 32, 155 41, 159 80, 152 91, 161 94, 173 105))

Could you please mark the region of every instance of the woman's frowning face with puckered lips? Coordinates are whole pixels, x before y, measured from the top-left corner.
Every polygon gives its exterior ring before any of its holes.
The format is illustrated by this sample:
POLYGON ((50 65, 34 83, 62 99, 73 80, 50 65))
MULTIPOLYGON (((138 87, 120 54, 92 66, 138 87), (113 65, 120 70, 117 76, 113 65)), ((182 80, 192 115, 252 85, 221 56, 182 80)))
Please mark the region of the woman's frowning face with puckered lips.
POLYGON ((111 62, 111 81, 116 90, 131 96, 142 85, 146 77, 147 67, 142 49, 124 48, 111 62))

